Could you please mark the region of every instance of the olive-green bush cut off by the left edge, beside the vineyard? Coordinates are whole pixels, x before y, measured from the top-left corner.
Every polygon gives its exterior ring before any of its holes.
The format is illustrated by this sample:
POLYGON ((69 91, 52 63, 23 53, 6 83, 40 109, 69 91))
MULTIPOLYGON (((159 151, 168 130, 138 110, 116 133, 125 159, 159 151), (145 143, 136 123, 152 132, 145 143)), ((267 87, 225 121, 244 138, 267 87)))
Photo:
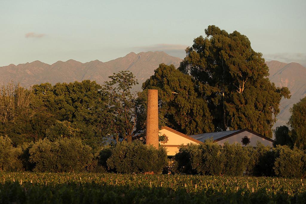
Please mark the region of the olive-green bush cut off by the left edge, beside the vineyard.
POLYGON ((20 171, 22 164, 17 159, 20 148, 14 148, 9 137, 0 136, 0 171, 20 171))

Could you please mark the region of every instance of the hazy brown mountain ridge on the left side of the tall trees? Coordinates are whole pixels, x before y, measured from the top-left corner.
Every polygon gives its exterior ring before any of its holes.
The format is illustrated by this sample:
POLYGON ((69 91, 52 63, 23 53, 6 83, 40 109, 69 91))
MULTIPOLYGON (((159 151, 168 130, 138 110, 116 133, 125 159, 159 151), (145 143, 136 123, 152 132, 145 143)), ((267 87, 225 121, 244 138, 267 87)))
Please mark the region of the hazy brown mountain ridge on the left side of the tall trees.
POLYGON ((81 63, 75 60, 66 62, 58 61, 54 64, 45 64, 40 61, 34 61, 26 64, 10 64, 9 66, 0 67, 0 82, 7 84, 13 80, 19 82, 21 86, 30 88, 35 84, 57 82, 81 82, 85 79, 96 81, 103 84, 108 81, 108 76, 118 71, 127 70, 132 72, 139 82, 136 86, 141 89, 142 83, 154 74, 154 70, 159 64, 173 64, 178 67, 181 58, 167 55, 165 52, 141 52, 129 53, 124 57, 119 57, 108 62, 99 60, 81 63))

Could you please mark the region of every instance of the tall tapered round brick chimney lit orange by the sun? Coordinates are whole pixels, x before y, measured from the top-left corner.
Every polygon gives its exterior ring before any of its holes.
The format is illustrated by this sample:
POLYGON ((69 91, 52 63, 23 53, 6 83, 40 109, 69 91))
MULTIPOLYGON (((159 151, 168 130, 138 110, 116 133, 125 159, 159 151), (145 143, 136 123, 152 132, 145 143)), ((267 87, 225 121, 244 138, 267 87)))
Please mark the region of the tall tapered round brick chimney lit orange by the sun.
POLYGON ((158 149, 158 90, 148 89, 146 144, 158 149))

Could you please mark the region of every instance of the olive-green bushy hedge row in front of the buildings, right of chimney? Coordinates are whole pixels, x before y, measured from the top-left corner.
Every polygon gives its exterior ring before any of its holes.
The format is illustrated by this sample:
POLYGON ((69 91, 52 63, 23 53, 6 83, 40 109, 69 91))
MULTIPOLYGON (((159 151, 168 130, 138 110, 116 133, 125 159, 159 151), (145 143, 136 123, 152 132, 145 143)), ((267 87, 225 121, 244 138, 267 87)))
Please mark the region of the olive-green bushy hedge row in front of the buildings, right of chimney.
POLYGON ((181 146, 175 155, 174 170, 185 174, 253 176, 306 176, 305 151, 288 146, 276 148, 257 144, 257 148, 240 144, 218 145, 211 140, 203 144, 181 146))

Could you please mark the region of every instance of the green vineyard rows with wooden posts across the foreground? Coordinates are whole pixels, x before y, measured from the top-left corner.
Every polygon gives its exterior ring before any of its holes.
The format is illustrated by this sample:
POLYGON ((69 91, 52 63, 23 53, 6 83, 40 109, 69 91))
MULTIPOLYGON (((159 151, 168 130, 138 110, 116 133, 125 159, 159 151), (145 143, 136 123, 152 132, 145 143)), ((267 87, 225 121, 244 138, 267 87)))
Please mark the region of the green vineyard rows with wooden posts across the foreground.
POLYGON ((0 172, 0 203, 306 203, 305 179, 0 172))

